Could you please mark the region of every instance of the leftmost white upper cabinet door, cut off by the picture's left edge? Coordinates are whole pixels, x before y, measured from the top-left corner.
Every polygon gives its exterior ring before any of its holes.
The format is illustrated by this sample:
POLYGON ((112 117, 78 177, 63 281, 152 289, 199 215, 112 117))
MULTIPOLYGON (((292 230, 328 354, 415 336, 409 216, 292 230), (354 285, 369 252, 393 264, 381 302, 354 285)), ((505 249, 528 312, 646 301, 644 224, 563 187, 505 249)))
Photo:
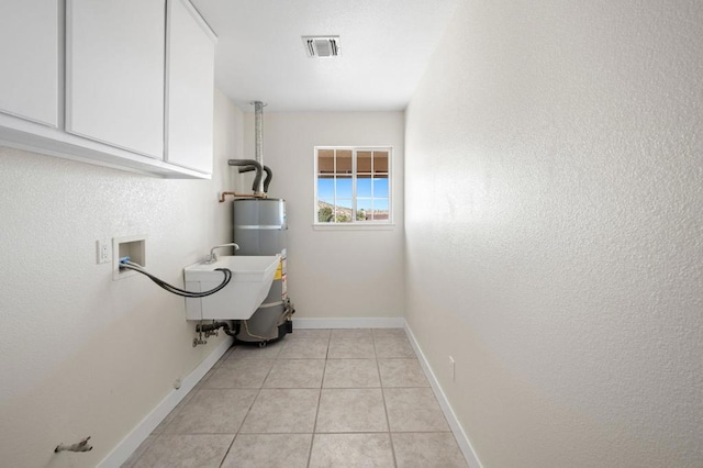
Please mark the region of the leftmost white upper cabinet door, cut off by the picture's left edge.
POLYGON ((0 112, 58 118, 58 0, 0 1, 0 112))

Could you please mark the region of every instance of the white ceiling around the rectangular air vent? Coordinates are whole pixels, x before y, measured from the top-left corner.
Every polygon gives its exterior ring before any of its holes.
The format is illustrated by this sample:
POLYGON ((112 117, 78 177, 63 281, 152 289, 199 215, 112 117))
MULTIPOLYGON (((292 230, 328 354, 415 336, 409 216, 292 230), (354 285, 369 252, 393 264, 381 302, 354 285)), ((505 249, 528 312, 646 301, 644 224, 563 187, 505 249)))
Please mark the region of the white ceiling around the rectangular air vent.
POLYGON ((460 0, 191 0, 217 35, 215 85, 242 110, 403 110, 460 0), (301 36, 338 35, 309 58, 301 36))

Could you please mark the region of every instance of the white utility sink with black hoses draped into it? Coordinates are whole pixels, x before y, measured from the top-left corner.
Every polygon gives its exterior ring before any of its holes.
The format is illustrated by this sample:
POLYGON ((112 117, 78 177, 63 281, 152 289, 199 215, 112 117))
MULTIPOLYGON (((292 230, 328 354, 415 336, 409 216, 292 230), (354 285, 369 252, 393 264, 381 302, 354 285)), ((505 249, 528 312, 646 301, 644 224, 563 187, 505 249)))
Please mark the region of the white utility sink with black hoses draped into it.
POLYGON ((209 291, 222 283, 224 275, 215 271, 216 268, 232 270, 232 280, 222 290, 204 298, 186 298, 186 319, 249 319, 268 296, 280 261, 280 255, 235 255, 186 267, 186 290, 196 292, 209 291))

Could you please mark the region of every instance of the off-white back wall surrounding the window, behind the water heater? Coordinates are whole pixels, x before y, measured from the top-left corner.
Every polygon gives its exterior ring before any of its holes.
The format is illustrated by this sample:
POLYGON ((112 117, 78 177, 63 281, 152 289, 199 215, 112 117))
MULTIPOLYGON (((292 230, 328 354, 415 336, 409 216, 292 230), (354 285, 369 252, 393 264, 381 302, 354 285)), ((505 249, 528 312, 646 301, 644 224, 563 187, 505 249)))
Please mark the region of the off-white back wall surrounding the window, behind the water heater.
MULTIPOLYGON (((403 112, 264 111, 269 197, 287 200, 288 290, 295 319, 403 315, 403 112), (386 231, 315 231, 314 146, 393 146, 395 226, 386 231)), ((254 158, 254 114, 245 115, 246 158, 254 158)), ((241 186, 250 191, 250 183, 241 186)), ((236 241, 236 239, 235 239, 236 241)))

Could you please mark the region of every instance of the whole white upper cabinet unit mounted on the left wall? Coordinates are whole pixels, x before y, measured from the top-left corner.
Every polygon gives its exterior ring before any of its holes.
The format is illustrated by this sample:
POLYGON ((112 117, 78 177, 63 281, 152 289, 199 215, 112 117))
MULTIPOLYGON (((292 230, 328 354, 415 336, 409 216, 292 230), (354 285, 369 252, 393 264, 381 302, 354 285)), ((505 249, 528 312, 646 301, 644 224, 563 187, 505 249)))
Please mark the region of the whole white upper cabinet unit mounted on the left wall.
POLYGON ((188 0, 0 0, 0 145, 209 178, 215 42, 188 0))

